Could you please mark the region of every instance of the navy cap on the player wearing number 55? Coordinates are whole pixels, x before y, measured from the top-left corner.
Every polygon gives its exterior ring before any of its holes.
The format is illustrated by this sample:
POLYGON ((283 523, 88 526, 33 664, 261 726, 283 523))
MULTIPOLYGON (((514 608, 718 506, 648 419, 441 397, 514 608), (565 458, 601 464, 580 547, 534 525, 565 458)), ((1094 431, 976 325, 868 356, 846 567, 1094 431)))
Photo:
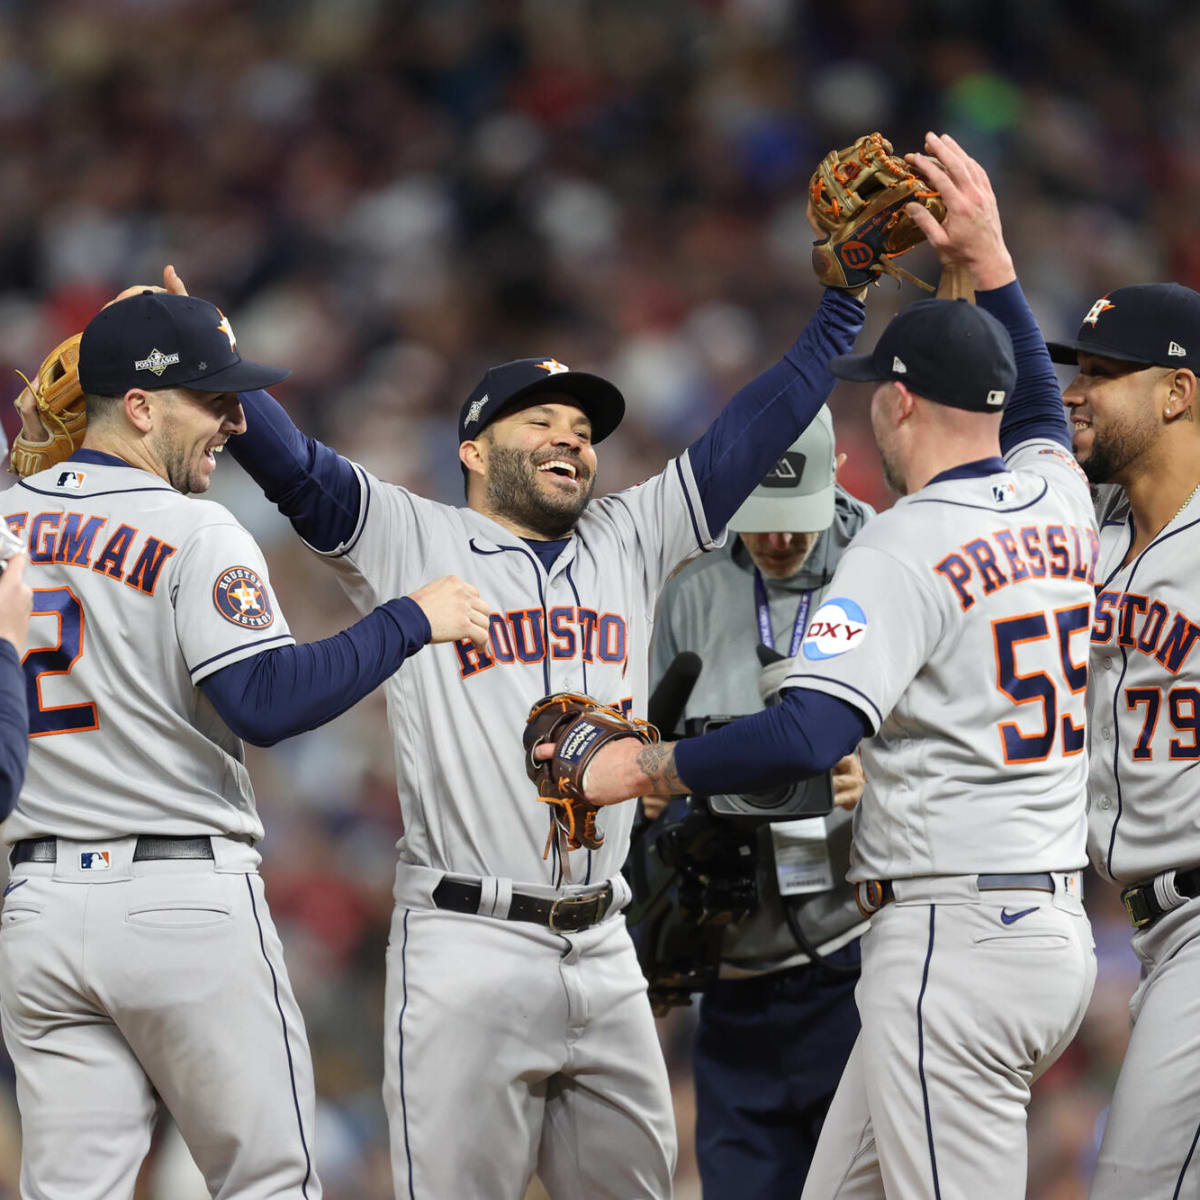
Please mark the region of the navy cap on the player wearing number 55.
POLYGON ((839 379, 893 380, 950 408, 998 413, 1016 383, 1008 330, 966 300, 918 300, 898 313, 870 354, 829 364, 839 379))

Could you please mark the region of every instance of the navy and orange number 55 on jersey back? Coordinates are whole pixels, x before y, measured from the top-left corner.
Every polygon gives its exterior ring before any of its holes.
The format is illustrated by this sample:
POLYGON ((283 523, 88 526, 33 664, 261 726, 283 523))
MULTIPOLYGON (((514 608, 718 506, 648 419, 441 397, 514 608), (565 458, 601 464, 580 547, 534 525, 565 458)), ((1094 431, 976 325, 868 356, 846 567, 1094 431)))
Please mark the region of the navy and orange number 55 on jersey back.
MULTIPOLYGON (((994 620, 996 640, 996 686, 1014 704, 1039 703, 1043 727, 1037 733, 1022 733, 1015 721, 1001 721, 1000 736, 1004 746, 1004 762, 1043 762, 1054 749, 1055 738, 1062 732, 1062 752, 1079 754, 1084 749, 1082 696, 1087 688, 1087 659, 1075 662, 1070 656, 1070 637, 1091 629, 1091 605, 1058 608, 1052 613, 1031 612, 1024 617, 994 620), (1054 622, 1051 631, 1050 622, 1054 622), (1026 642, 1058 642, 1058 662, 1062 680, 1070 695, 1079 696, 1079 724, 1069 713, 1060 715, 1058 684, 1045 671, 1022 674, 1016 667, 1018 648, 1026 642)), ((1057 673, 1057 672, 1056 672, 1057 673)), ((1066 703, 1062 706, 1066 708, 1066 703)))

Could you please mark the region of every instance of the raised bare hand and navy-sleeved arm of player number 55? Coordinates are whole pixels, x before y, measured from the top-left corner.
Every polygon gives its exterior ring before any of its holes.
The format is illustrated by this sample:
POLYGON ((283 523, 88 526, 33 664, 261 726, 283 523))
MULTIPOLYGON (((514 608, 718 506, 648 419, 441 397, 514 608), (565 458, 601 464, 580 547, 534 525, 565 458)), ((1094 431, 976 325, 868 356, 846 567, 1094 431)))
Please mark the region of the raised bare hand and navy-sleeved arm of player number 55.
POLYGON ((988 173, 949 134, 928 133, 925 150, 906 157, 942 193, 946 221, 938 224, 914 204, 906 211, 944 268, 970 270, 979 307, 996 317, 1013 338, 1016 388, 1004 407, 1001 449, 1007 454, 1032 438, 1051 438, 1069 450, 1070 430, 1058 379, 1016 282, 988 173))

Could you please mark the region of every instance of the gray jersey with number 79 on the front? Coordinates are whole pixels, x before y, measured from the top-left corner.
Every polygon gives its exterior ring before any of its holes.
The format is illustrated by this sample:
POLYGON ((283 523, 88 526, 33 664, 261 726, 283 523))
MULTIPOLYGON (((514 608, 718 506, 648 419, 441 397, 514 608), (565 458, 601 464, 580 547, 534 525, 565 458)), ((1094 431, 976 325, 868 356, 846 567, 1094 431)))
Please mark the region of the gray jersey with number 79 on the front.
POLYGON ((1129 563, 1120 487, 1097 490, 1100 559, 1088 688, 1092 862, 1123 883, 1200 863, 1192 772, 1200 763, 1200 601, 1187 548, 1193 496, 1129 563))

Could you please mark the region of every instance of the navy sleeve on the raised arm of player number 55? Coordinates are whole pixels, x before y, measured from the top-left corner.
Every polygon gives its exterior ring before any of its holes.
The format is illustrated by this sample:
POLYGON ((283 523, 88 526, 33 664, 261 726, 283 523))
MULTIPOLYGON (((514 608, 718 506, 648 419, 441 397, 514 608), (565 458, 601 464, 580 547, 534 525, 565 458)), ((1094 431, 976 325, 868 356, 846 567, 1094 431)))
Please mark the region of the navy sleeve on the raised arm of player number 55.
POLYGON ((1000 448, 1008 454, 1033 438, 1052 438, 1070 449, 1070 427, 1050 352, 1021 284, 976 293, 976 302, 1008 330, 1016 356, 1016 386, 1000 422, 1000 448))

